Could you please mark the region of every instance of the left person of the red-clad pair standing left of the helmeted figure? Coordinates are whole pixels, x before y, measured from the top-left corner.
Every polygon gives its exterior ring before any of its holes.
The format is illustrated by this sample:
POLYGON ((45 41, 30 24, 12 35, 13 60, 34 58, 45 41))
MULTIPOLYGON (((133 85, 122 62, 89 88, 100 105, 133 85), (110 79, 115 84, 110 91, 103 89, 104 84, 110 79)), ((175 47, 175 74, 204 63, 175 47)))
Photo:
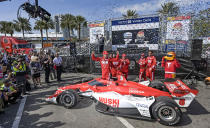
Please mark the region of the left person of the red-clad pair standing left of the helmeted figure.
POLYGON ((137 63, 140 65, 139 82, 141 82, 142 81, 142 78, 144 78, 144 80, 146 80, 146 75, 145 75, 145 71, 146 71, 146 58, 144 56, 144 53, 141 54, 141 58, 139 59, 139 61, 137 61, 137 63))

